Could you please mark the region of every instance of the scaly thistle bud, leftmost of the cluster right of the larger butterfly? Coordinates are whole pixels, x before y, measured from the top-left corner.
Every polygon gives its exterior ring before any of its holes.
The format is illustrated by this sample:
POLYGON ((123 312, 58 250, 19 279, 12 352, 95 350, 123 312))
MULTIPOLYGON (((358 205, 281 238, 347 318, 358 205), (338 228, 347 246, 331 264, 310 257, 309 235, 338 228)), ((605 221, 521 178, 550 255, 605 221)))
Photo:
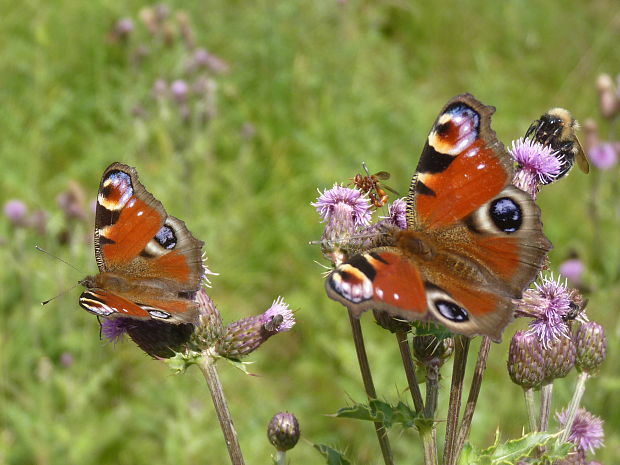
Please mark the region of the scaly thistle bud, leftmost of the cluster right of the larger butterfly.
POLYGON ((535 334, 517 331, 508 349, 508 374, 515 384, 530 389, 539 386, 544 378, 544 359, 535 334))

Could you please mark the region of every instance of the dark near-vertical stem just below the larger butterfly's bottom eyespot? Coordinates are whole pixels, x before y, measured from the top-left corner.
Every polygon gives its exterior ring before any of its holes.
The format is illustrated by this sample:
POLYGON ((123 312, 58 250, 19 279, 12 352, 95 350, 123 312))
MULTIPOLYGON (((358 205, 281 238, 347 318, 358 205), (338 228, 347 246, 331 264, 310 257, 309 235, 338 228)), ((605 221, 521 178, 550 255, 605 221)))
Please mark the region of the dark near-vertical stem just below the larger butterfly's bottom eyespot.
POLYGON ((450 401, 448 404, 448 418, 446 422, 446 442, 443 450, 444 465, 456 463, 456 432, 461 411, 461 396, 463 395, 463 379, 467 366, 467 353, 470 339, 466 336, 454 338, 454 362, 452 365, 452 384, 450 386, 450 401))

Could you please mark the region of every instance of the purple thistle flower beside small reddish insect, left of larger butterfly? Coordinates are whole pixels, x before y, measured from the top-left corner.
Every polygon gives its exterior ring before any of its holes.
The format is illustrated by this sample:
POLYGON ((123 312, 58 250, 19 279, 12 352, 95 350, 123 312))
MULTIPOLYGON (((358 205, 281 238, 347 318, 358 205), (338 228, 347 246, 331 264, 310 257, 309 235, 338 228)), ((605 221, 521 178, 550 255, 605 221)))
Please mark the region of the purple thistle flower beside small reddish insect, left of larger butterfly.
POLYGON ((329 223, 338 216, 335 212, 339 208, 344 208, 349 213, 356 228, 368 226, 372 216, 368 197, 357 189, 349 189, 338 184, 334 184, 331 189, 325 189, 316 202, 310 205, 316 208, 324 223, 329 223))

